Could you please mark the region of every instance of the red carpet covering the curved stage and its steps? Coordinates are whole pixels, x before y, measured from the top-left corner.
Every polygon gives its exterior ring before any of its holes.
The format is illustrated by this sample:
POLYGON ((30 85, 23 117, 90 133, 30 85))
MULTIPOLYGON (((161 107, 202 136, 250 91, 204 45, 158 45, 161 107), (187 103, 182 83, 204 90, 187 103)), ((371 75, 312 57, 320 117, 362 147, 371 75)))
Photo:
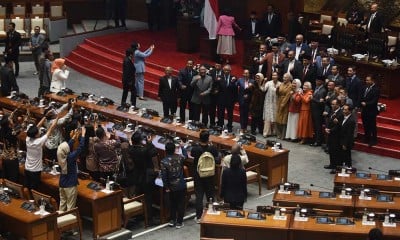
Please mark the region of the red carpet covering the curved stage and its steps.
MULTIPOLYGON (((176 31, 170 29, 162 32, 147 30, 137 32, 119 33, 86 39, 67 58, 67 64, 75 70, 106 82, 113 86, 121 87, 122 59, 125 50, 132 42, 139 42, 141 50, 155 44, 154 53, 146 61, 145 95, 157 98, 158 81, 164 75, 164 68, 171 66, 176 71, 186 65, 188 59, 195 63, 212 62, 200 59, 199 53, 186 54, 176 51, 176 31)), ((240 77, 242 73, 242 56, 244 53, 242 42, 236 42, 238 54, 233 59, 232 72, 240 77)), ((387 111, 378 116, 378 145, 368 147, 360 141, 356 142, 355 149, 378 155, 400 158, 400 98, 395 100, 380 99, 387 105, 387 111)), ((235 121, 239 120, 238 107, 235 108, 235 121)), ((361 119, 358 122, 359 138, 363 137, 361 119)))

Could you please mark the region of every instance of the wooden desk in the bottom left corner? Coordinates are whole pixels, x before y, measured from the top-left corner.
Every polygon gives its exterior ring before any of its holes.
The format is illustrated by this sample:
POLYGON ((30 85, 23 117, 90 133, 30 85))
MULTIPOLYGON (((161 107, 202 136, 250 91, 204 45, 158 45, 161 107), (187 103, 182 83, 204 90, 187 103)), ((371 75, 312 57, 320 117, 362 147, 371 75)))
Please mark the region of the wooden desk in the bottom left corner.
POLYGON ((35 215, 21 208, 23 202, 22 199, 11 199, 9 204, 0 202, 0 228, 28 240, 59 239, 57 213, 35 215))

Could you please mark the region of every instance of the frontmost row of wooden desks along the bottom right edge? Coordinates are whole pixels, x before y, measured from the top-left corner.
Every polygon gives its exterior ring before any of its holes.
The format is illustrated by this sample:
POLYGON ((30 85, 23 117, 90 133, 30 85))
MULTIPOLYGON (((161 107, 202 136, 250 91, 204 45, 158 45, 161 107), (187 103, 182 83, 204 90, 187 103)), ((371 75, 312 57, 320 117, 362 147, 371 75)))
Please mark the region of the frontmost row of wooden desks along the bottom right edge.
POLYGON ((224 212, 219 215, 203 214, 201 219, 201 237, 232 238, 235 240, 274 239, 274 240, 360 240, 366 239, 372 228, 380 228, 385 240, 400 238, 400 226, 383 227, 376 222, 375 226, 363 225, 354 220, 353 225, 319 224, 316 218, 307 221, 294 221, 291 214, 284 220, 275 220, 273 216, 266 216, 265 220, 248 219, 247 212, 244 218, 227 217, 224 212))

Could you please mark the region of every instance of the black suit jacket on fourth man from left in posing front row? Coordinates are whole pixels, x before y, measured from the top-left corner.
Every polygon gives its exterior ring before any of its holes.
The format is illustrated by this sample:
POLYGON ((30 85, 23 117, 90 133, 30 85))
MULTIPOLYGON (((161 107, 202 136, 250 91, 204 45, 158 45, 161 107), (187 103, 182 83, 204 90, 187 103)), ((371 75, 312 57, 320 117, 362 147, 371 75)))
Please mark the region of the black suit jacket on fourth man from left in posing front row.
POLYGON ((217 81, 218 84, 218 97, 217 97, 217 104, 223 106, 234 105, 238 99, 238 87, 236 82, 232 81, 233 76, 225 76, 222 75, 221 79, 217 81), (227 79, 229 79, 229 84, 227 83, 227 79))

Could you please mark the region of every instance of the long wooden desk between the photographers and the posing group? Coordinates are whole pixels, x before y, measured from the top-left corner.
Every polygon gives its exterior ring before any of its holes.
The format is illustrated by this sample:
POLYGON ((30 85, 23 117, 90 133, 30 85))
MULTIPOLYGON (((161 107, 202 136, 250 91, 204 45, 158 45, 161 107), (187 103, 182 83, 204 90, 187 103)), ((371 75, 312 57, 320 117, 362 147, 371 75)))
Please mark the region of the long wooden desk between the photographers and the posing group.
MULTIPOLYGON (((60 101, 67 102, 69 98, 76 97, 75 95, 68 96, 57 96, 57 94, 48 94, 47 98, 60 101)), ((2 99, 0 98, 0 104, 2 104, 2 99)), ((88 103, 86 101, 78 100, 76 103, 77 106, 84 107, 87 109, 91 109, 94 112, 99 112, 113 119, 118 120, 130 120, 132 122, 138 122, 142 125, 147 125, 159 131, 160 133, 164 133, 167 131, 174 131, 180 137, 188 137, 190 139, 198 139, 199 132, 191 131, 182 126, 174 126, 172 124, 166 124, 160 122, 160 118, 154 119, 145 119, 138 115, 121 112, 116 110, 117 106, 98 106, 93 103, 88 103)), ((232 139, 224 139, 218 136, 211 136, 210 141, 213 144, 217 145, 219 148, 230 149, 233 144, 236 142, 232 139)), ((289 158, 289 150, 284 149, 281 152, 274 152, 271 148, 266 150, 258 149, 255 147, 255 144, 249 146, 243 146, 247 152, 249 157, 249 166, 253 166, 255 164, 260 164, 261 175, 267 177, 267 189, 272 189, 275 186, 278 186, 281 182, 282 178, 287 179, 288 173, 288 158, 289 158)))

